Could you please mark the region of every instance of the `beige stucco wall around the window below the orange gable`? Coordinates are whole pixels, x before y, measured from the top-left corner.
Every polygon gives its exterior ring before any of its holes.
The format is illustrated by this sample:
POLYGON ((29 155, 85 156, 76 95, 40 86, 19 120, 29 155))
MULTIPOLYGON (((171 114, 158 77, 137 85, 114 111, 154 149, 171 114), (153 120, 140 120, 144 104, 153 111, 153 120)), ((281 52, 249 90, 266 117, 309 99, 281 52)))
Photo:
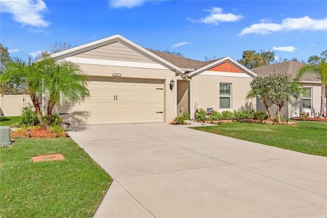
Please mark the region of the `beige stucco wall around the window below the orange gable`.
MULTIPOLYGON (((231 111, 238 110, 244 106, 246 95, 251 90, 250 81, 252 78, 196 75, 192 77, 192 107, 197 103, 198 109, 213 107, 218 112, 226 111, 219 107, 219 84, 223 82, 231 83, 231 111)), ((255 104, 255 99, 250 101, 255 104)))

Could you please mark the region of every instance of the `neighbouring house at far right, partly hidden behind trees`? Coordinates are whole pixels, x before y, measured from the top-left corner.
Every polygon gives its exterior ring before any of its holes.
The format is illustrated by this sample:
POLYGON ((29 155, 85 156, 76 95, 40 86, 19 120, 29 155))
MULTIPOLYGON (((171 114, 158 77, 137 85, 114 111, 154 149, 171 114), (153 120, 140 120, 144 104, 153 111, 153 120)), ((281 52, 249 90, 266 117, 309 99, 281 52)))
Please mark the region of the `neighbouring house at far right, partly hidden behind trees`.
MULTIPOLYGON (((281 63, 270 64, 267 66, 252 68, 257 75, 268 75, 270 73, 286 73, 291 75, 291 79, 295 81, 297 71, 306 66, 305 63, 297 61, 286 61, 281 63)), ((298 117, 299 113, 309 113, 310 117, 314 117, 320 111, 321 101, 321 78, 319 74, 305 74, 300 81, 300 84, 307 90, 307 94, 303 95, 295 101, 294 104, 287 104, 282 108, 282 116, 285 118, 298 117)), ((271 105, 271 104, 270 104, 271 105)), ((257 99, 257 110, 264 111, 265 106, 257 99)), ((271 113, 274 115, 277 107, 273 105, 271 113)))

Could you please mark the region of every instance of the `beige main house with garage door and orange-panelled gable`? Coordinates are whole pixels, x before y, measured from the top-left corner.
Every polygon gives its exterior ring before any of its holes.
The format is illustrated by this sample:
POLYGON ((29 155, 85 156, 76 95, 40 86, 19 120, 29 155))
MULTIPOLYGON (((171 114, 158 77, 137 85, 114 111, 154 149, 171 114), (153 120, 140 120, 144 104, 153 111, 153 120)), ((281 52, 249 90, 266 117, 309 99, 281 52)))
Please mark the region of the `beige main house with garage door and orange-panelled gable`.
POLYGON ((74 108, 59 106, 68 120, 85 113, 86 124, 171 122, 186 110, 194 117, 206 107, 238 110, 256 76, 229 57, 193 60, 142 48, 121 35, 52 57, 78 63, 87 73, 90 98, 74 108))

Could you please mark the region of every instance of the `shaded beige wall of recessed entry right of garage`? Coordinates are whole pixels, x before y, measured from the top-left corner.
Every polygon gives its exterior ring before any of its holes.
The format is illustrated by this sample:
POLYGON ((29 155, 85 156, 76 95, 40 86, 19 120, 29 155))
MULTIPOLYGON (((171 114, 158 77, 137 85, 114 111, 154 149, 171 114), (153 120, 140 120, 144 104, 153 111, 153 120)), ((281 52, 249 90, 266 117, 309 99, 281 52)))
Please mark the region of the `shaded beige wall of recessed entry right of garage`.
POLYGON ((182 115, 184 111, 190 111, 189 83, 187 80, 177 80, 177 116, 182 115))

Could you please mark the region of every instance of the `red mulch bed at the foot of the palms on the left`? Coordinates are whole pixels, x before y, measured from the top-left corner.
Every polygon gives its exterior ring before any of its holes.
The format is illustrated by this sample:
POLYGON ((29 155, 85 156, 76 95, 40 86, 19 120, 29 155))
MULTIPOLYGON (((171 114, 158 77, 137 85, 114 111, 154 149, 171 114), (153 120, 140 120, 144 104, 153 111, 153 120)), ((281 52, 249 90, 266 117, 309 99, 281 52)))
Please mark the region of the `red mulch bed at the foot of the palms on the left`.
POLYGON ((57 136, 54 133, 51 133, 50 130, 47 129, 31 129, 30 132, 28 129, 24 130, 14 130, 10 133, 10 138, 66 138, 66 134, 62 133, 59 136, 57 136))

